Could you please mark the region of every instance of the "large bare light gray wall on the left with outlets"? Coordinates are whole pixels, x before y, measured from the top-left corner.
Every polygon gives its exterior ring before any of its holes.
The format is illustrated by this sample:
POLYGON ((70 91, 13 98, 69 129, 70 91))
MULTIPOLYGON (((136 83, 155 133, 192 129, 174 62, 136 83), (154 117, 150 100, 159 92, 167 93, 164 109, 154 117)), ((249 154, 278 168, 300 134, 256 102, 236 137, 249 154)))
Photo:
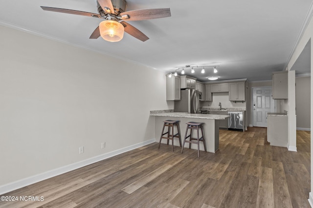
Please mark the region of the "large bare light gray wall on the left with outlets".
POLYGON ((4 26, 0 34, 0 189, 154 141, 150 111, 173 108, 164 72, 4 26))

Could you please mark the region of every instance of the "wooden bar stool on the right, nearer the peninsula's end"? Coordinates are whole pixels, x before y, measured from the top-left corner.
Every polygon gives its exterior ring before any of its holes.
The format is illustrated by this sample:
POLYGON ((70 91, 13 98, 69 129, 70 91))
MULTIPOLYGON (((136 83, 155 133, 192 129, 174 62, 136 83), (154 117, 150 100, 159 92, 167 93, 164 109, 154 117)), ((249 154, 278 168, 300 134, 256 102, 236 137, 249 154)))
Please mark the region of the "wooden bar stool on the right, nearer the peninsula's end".
POLYGON ((203 134, 203 123, 188 122, 186 124, 187 124, 187 129, 186 129, 184 141, 182 143, 181 153, 184 150, 185 142, 189 143, 189 149, 191 148, 191 143, 194 143, 194 144, 198 145, 198 157, 200 157, 200 149, 199 149, 199 142, 200 141, 203 142, 204 151, 206 151, 205 139, 204 139, 204 134, 203 134), (188 129, 190 129, 190 134, 187 136, 188 129), (192 138, 192 131, 194 129, 197 130, 197 138, 192 138), (201 133, 202 133, 202 136, 200 138, 199 138, 199 129, 201 129, 201 133), (188 137, 189 137, 189 141, 186 140, 186 139, 188 139, 188 137))

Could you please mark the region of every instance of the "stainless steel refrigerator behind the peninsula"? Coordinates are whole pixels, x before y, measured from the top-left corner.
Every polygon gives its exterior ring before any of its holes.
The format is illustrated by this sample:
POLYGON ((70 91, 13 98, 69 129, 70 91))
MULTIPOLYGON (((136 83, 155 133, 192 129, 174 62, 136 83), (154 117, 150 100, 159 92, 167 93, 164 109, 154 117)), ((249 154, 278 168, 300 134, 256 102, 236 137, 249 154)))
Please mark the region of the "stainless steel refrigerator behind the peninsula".
POLYGON ((180 100, 174 103, 174 112, 200 113, 199 111, 199 94, 198 90, 183 89, 180 90, 180 100))

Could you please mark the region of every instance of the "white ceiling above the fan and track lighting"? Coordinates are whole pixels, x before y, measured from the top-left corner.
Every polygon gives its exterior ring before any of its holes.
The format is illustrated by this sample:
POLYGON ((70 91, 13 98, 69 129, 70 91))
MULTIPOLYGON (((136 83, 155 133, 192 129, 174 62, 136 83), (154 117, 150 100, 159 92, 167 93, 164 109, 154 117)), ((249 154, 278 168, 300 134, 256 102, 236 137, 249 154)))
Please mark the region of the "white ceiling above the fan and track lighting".
MULTIPOLYGON (((96 0, 6 0, 0 24, 27 30, 165 73, 185 65, 219 65, 220 80, 269 80, 291 55, 313 0, 127 0, 127 11, 170 8, 172 17, 129 21, 150 39, 89 39, 101 19, 44 11, 40 6, 97 13, 96 0)), ((180 74, 179 70, 179 74, 180 74)), ((201 81, 201 74, 185 70, 201 81)))

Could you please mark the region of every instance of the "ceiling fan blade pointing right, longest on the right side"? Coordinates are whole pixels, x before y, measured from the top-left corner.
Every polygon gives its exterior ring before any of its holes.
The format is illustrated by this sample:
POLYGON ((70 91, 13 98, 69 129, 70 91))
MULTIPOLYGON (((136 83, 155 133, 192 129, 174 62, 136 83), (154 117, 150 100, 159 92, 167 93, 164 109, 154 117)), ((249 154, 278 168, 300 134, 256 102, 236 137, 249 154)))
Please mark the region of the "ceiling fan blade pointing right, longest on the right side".
POLYGON ((171 17, 170 8, 166 9, 137 9, 120 14, 124 20, 145 20, 171 17), (123 18, 125 16, 126 18, 123 18))

